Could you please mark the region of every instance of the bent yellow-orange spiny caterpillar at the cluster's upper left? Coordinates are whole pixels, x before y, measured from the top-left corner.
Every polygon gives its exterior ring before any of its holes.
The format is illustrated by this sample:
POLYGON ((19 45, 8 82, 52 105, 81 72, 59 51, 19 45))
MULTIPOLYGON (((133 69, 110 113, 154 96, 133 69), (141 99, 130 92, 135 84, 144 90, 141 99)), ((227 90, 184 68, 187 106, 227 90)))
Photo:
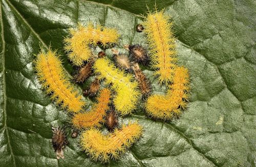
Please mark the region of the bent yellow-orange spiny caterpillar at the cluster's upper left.
POLYGON ((84 61, 91 58, 89 44, 97 45, 100 43, 103 47, 117 43, 119 34, 116 29, 109 29, 100 25, 94 28, 90 23, 88 26, 78 24, 77 30, 70 29, 69 37, 65 38, 65 50, 68 57, 76 66, 81 66, 84 61))

